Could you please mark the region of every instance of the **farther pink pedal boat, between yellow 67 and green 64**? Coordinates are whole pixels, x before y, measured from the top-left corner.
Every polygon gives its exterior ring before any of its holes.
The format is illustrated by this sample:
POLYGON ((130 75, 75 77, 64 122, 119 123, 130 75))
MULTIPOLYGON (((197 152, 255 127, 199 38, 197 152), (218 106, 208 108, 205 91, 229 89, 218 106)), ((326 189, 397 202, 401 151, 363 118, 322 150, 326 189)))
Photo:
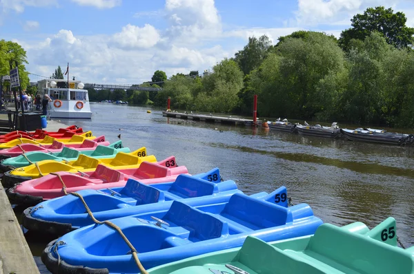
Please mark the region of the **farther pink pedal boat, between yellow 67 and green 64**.
POLYGON ((46 153, 61 152, 63 147, 70 147, 79 151, 95 149, 98 145, 109 145, 109 142, 105 140, 105 136, 99 136, 93 140, 85 139, 83 143, 60 143, 58 140, 54 140, 51 145, 34 145, 34 144, 21 144, 19 146, 10 147, 10 149, 0 150, 0 160, 10 157, 16 157, 23 154, 23 151, 42 151, 46 153))

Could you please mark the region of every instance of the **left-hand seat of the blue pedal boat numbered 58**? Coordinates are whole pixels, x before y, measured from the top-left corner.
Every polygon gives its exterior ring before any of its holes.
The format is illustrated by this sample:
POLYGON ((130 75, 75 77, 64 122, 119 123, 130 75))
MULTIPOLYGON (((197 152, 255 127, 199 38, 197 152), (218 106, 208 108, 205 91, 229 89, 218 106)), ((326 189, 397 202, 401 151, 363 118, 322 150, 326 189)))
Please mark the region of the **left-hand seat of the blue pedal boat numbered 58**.
POLYGON ((133 179, 128 179, 120 194, 137 200, 135 205, 164 201, 164 191, 159 191, 155 187, 141 184, 133 179))

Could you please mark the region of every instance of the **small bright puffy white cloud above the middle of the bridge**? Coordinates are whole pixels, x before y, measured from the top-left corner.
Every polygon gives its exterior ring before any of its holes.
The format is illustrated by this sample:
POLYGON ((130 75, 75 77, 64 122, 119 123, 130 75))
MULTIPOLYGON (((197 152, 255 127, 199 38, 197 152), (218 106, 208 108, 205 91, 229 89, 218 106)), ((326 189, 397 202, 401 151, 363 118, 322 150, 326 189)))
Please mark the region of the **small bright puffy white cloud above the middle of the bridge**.
POLYGON ((126 25, 122 31, 115 34, 112 41, 120 48, 151 48, 158 43, 160 35, 152 25, 145 24, 139 28, 136 25, 126 25))

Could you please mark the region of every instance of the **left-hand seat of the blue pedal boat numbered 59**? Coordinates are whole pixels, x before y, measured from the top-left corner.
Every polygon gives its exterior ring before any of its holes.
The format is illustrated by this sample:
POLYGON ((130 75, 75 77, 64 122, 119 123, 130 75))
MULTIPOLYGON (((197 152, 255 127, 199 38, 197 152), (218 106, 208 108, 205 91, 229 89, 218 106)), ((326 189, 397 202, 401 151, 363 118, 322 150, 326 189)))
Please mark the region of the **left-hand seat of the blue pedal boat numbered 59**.
POLYGON ((190 231, 188 240, 199 242, 228 235, 228 224, 221 222, 213 215, 190 207, 182 202, 174 201, 162 220, 190 231))

